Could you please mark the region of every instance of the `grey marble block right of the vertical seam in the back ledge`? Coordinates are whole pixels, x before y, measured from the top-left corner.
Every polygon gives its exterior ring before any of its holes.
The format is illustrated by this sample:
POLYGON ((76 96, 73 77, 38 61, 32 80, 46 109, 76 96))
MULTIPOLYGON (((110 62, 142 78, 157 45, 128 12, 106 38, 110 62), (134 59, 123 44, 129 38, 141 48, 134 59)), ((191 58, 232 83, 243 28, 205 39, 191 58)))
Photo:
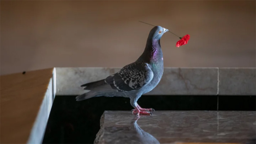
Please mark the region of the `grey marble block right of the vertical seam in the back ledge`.
POLYGON ((256 68, 219 68, 219 95, 256 95, 256 68))

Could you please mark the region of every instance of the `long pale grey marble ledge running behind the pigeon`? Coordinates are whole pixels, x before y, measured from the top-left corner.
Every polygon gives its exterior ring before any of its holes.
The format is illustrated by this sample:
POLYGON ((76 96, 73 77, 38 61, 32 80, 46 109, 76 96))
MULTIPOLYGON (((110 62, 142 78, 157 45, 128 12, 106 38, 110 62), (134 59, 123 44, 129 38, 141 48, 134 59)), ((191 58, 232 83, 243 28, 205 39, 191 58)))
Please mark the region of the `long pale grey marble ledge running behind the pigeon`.
MULTIPOLYGON (((57 95, 80 95, 87 92, 80 85, 120 69, 56 68, 57 95)), ((158 86, 145 95, 255 95, 255 89, 255 68, 165 68, 158 86)))

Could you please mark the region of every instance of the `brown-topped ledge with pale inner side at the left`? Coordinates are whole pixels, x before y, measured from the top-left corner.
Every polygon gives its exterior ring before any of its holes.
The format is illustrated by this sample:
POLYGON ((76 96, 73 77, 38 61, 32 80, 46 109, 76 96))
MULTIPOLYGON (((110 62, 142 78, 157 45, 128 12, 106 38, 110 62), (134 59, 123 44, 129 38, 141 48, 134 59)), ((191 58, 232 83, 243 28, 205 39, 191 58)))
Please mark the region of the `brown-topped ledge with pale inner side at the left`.
POLYGON ((55 90, 54 68, 1 76, 1 143, 42 143, 55 90))

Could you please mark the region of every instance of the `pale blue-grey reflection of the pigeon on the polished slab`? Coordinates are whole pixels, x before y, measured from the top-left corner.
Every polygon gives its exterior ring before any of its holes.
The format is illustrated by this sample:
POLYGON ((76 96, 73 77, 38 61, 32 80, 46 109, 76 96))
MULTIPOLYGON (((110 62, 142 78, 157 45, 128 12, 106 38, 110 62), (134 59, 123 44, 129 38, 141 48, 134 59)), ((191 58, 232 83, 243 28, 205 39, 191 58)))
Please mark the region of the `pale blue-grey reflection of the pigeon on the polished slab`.
POLYGON ((134 129, 136 130, 138 137, 139 137, 139 142, 140 144, 160 144, 159 141, 153 137, 153 135, 145 132, 143 129, 139 127, 137 124, 139 117, 133 122, 134 129))

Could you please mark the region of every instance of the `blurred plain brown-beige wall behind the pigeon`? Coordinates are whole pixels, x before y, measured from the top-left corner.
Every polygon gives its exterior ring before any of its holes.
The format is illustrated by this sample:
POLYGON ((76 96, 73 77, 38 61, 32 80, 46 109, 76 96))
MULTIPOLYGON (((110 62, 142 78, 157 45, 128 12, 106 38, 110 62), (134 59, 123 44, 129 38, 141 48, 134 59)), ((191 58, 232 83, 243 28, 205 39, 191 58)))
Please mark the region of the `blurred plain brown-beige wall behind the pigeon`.
POLYGON ((255 1, 2 1, 1 75, 54 66, 124 66, 143 52, 149 25, 165 66, 255 67, 255 1))

